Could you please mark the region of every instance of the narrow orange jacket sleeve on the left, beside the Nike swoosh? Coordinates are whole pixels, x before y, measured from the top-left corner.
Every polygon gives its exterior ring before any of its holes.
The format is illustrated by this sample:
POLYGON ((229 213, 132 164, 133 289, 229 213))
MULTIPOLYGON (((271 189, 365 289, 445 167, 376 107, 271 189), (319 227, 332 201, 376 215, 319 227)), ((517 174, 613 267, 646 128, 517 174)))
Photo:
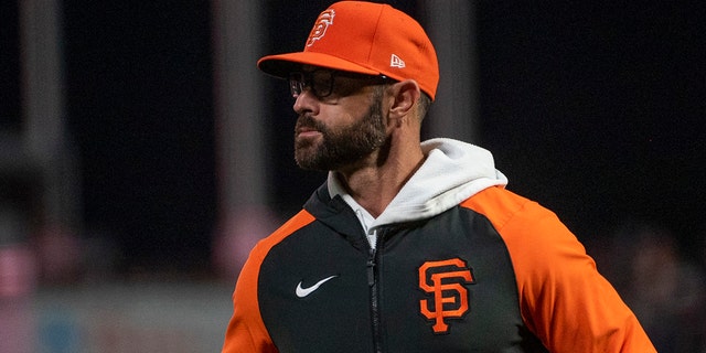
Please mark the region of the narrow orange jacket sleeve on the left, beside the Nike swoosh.
POLYGON ((260 315, 257 295, 260 265, 275 245, 313 220, 311 214, 301 211, 253 248, 233 292, 233 317, 226 329, 223 353, 278 352, 260 315))

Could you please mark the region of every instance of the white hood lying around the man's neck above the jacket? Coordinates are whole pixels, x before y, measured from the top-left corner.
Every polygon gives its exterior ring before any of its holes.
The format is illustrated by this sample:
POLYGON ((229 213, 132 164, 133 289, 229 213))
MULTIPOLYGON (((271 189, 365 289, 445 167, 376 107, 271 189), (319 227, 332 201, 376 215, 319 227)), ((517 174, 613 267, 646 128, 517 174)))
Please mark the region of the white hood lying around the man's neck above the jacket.
MULTIPOLYGON (((471 195, 494 185, 506 185, 507 178, 495 169, 490 151, 452 139, 421 142, 427 157, 424 164, 407 181, 387 208, 367 226, 409 222, 438 215, 471 195)), ((331 196, 345 195, 338 178, 329 174, 331 196)), ((347 196, 347 197, 346 197, 347 196)))

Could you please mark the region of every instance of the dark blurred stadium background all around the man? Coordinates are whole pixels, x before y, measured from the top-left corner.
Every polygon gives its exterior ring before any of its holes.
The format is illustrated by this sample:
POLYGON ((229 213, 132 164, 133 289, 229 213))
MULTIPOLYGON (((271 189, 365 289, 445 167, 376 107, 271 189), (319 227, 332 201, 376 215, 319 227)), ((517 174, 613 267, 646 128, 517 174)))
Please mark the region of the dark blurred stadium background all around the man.
MULTIPOLYGON (((220 350, 244 256, 323 180, 255 62, 329 3, 0 2, 0 352, 220 350)), ((426 137, 493 151, 660 352, 704 352, 704 6, 389 3, 442 65, 426 137)))

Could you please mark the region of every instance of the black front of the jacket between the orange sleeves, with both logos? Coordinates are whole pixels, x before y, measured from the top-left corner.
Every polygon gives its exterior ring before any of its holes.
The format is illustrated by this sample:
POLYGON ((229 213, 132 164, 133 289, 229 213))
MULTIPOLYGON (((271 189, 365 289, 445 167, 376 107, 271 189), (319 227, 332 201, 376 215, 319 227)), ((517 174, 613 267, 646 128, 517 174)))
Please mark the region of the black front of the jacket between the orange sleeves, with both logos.
POLYGON ((300 232, 258 285, 281 352, 525 352, 512 261, 484 217, 384 228, 375 252, 323 224, 300 232))

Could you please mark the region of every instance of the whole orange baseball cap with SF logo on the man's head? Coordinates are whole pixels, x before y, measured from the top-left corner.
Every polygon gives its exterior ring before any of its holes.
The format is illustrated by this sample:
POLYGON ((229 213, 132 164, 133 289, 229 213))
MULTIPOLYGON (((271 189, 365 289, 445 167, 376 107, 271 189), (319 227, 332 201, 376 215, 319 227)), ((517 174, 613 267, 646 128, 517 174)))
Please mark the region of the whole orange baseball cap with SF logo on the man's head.
POLYGON ((388 4, 366 1, 333 3, 317 18, 303 51, 257 62, 276 77, 302 65, 411 78, 432 100, 439 83, 437 54, 421 25, 388 4))

